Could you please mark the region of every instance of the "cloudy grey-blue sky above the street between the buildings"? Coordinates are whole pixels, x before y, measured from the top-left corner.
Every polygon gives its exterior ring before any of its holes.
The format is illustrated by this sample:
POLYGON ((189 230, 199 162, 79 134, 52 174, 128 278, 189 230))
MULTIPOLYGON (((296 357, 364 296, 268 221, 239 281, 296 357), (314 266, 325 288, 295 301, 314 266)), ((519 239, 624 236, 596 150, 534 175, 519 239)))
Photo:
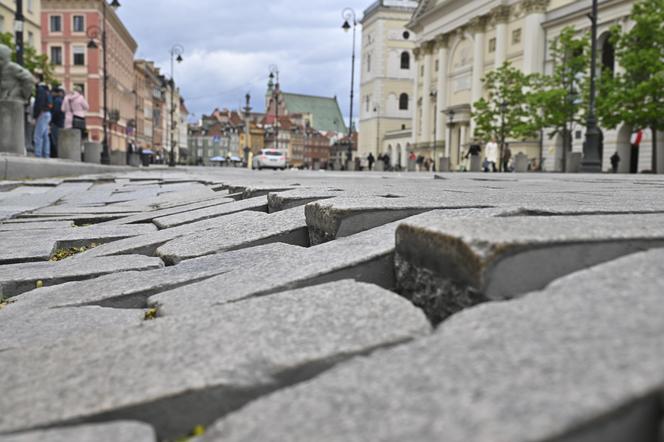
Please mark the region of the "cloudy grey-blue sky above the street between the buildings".
MULTIPOLYGON (((166 75, 170 48, 184 46, 175 81, 196 118, 244 105, 247 92, 263 111, 271 64, 282 90, 336 95, 348 118, 352 34, 341 29, 341 11, 352 7, 359 19, 372 1, 121 0, 118 14, 138 42, 137 57, 154 60, 166 75)), ((358 94, 356 82, 356 106, 358 94)))

